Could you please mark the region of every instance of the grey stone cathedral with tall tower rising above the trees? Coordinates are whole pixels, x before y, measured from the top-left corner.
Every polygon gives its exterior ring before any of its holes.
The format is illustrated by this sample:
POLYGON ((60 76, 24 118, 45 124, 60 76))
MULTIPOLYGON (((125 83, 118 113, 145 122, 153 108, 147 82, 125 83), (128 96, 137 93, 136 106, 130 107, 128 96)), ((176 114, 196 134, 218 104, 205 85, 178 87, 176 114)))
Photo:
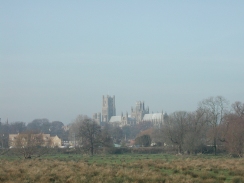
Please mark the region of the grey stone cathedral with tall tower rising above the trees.
POLYGON ((93 114, 93 120, 98 124, 111 123, 116 126, 131 126, 139 124, 141 122, 151 122, 155 127, 160 128, 164 123, 166 114, 161 113, 149 113, 149 107, 145 108, 145 104, 142 101, 137 101, 135 108, 131 107, 131 114, 121 113, 116 115, 115 108, 115 96, 103 96, 102 101, 102 114, 93 114))

